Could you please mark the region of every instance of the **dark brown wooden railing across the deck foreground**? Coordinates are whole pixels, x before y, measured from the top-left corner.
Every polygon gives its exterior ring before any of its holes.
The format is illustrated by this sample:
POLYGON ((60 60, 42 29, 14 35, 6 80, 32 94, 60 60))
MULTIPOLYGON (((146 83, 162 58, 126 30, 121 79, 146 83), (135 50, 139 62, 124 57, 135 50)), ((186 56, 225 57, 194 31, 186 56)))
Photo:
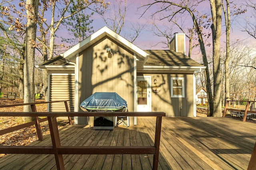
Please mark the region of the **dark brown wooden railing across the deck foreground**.
POLYGON ((52 146, 0 146, 5 154, 54 154, 58 170, 64 170, 63 154, 154 154, 153 170, 158 168, 162 117, 164 112, 0 112, 2 116, 46 116, 49 123, 52 146), (154 146, 61 146, 56 117, 59 116, 153 116, 156 117, 154 146))

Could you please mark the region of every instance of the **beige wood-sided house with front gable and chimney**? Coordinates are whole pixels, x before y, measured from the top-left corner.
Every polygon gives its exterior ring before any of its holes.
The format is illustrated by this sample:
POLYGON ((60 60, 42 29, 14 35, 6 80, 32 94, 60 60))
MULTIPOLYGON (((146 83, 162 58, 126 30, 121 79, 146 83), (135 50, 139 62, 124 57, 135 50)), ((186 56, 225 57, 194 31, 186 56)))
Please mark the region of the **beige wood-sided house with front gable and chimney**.
MULTIPOLYGON (((164 111, 196 116, 195 71, 205 69, 185 55, 185 35, 176 33, 170 50, 142 50, 102 27, 61 56, 36 67, 48 70, 48 100, 70 100, 71 111, 94 92, 116 92, 128 111, 164 111)), ((52 104, 48 111, 64 111, 52 104)), ((75 117, 75 124, 87 117, 75 117)), ((136 117, 130 117, 136 125, 136 117)))

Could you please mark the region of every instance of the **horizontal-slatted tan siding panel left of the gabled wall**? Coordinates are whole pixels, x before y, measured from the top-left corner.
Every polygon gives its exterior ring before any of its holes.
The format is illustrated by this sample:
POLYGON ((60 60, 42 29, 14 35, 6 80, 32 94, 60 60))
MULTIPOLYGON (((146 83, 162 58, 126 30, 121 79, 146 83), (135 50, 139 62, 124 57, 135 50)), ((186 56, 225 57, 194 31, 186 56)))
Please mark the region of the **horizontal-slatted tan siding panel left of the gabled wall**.
MULTIPOLYGON (((49 101, 70 100, 68 107, 74 111, 74 74, 50 75, 49 101)), ((64 102, 49 104, 49 111, 66 111, 64 102)))

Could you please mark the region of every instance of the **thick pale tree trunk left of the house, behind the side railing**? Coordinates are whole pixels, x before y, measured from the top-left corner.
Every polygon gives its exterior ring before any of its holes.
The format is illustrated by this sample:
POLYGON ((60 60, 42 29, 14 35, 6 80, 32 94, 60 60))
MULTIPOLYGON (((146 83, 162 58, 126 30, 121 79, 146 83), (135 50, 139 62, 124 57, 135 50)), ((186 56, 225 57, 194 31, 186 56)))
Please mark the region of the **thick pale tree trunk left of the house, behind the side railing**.
MULTIPOLYGON (((35 101, 34 61, 36 47, 36 18, 38 17, 39 0, 26 1, 26 48, 24 58, 24 103, 35 101)), ((31 111, 31 107, 24 106, 24 112, 31 111)), ((30 121, 32 117, 23 117, 23 121, 30 121)))

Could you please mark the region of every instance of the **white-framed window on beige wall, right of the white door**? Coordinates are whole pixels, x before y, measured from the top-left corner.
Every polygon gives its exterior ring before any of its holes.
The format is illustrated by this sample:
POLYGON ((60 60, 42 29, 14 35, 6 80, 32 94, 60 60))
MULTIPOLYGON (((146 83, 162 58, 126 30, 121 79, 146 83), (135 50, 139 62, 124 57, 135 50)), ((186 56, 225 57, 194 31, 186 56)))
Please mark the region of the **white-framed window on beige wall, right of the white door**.
POLYGON ((184 98, 184 77, 171 77, 171 98, 184 98))

